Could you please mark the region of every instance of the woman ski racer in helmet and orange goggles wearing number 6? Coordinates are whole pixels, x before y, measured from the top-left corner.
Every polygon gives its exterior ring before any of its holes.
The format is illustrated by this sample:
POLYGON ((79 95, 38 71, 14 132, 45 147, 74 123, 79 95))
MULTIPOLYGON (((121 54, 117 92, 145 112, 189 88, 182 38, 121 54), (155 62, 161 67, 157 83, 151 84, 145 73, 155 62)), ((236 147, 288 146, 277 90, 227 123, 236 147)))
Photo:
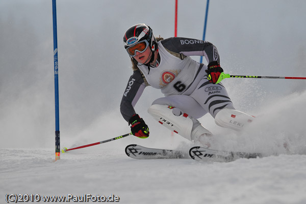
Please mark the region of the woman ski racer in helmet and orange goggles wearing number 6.
POLYGON ((223 69, 212 43, 182 37, 155 38, 145 24, 127 29, 123 42, 134 72, 125 88, 120 111, 136 137, 149 137, 148 126, 134 109, 149 85, 165 95, 152 103, 149 114, 192 142, 210 146, 206 139, 212 133, 197 120, 208 112, 217 125, 234 130, 241 130, 252 121, 252 116, 234 108, 225 87, 216 84, 223 69), (189 56, 205 56, 208 65, 189 56))

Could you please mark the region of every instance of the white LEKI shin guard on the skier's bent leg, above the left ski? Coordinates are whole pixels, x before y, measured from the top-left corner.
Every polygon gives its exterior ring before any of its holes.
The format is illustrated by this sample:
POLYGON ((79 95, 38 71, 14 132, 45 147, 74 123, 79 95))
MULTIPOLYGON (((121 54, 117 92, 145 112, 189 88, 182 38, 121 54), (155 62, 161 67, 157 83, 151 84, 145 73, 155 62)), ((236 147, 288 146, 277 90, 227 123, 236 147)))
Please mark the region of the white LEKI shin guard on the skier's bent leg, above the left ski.
POLYGON ((171 106, 154 104, 148 108, 148 113, 166 128, 191 141, 190 135, 193 126, 191 118, 187 114, 175 116, 172 108, 171 106))

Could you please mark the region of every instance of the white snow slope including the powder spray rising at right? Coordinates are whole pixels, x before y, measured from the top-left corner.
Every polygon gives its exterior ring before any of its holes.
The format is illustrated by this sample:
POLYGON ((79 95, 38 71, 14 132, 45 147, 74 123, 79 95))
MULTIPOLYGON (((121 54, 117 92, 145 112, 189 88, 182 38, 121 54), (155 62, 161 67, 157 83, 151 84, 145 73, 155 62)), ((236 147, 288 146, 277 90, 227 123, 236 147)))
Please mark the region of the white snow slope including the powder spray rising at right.
MULTIPOLYGON (((170 133, 152 134, 146 140, 129 136, 72 150, 62 153, 61 160, 56 162, 53 149, 2 148, 1 199, 5 200, 5 195, 12 193, 41 196, 114 194, 120 198, 119 203, 131 204, 305 203, 305 103, 306 92, 292 94, 262 107, 257 119, 243 132, 220 128, 211 141, 215 148, 265 154, 263 158, 239 159, 231 163, 200 163, 191 159, 134 160, 124 153, 124 147, 132 143, 185 150, 192 146, 170 133), (161 138, 164 140, 153 142, 161 138)), ((98 126, 92 126, 87 133, 96 131, 98 126)), ((81 138, 75 139, 74 144, 71 139, 62 143, 73 147, 97 142, 89 137, 83 139, 82 144, 77 144, 78 140, 81 138)))

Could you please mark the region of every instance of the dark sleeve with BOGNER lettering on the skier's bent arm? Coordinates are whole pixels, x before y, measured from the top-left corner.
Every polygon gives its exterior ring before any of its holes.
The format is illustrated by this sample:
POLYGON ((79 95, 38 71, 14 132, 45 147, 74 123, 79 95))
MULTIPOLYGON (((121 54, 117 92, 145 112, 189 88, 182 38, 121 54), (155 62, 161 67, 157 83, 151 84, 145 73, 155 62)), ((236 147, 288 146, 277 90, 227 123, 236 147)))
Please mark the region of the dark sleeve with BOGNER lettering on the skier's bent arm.
POLYGON ((185 56, 205 56, 208 63, 216 61, 220 64, 218 50, 211 42, 192 38, 171 37, 162 40, 161 43, 170 52, 185 56))

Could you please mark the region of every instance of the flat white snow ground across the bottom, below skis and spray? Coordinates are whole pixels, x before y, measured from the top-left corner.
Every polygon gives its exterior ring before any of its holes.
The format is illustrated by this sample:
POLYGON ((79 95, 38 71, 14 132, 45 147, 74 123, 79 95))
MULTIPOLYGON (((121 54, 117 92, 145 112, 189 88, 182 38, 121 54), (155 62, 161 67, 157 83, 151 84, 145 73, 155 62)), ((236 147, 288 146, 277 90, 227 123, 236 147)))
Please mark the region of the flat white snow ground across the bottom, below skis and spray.
POLYGON ((1 155, 2 197, 85 193, 115 194, 119 203, 306 202, 306 155, 231 163, 134 160, 122 150, 70 152, 57 162, 52 149, 1 149, 1 155))

